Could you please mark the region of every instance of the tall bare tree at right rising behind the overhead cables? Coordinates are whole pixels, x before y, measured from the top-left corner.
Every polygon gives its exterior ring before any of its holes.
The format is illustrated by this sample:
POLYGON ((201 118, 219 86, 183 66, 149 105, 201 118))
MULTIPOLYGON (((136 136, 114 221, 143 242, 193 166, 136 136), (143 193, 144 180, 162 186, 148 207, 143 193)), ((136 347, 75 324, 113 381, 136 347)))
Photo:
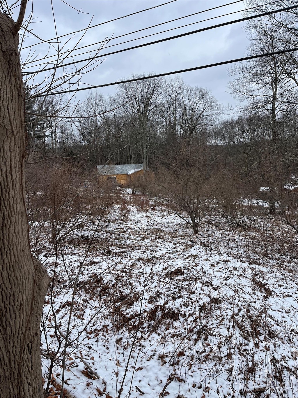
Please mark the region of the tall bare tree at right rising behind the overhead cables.
MULTIPOLYGON (((288 47, 287 41, 280 40, 280 32, 270 21, 263 20, 248 23, 247 29, 252 37, 250 54, 277 51, 288 47)), ((272 164, 274 153, 279 151, 278 122, 284 114, 297 112, 297 88, 289 74, 294 73, 293 63, 284 55, 253 59, 236 64, 230 68, 234 80, 230 82, 232 93, 244 101, 242 110, 270 117, 270 142, 272 164), (285 68, 288 73, 285 73, 285 68)), ((271 191, 275 187, 270 187, 271 191)), ((270 213, 275 214, 275 201, 270 200, 270 213)))

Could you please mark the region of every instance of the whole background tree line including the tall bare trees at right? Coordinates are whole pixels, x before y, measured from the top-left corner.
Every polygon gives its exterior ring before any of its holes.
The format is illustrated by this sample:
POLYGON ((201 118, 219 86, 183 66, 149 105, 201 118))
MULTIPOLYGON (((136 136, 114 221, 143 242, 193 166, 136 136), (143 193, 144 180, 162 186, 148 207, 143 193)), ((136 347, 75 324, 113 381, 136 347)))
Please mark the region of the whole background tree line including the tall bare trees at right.
MULTIPOLYGON (((254 0, 250 6, 248 16, 271 9, 254 0)), ((247 55, 297 47, 296 14, 294 9, 248 21, 247 55)), ((223 116, 227 111, 207 88, 179 77, 121 84, 108 98, 93 91, 72 106, 61 95, 31 99, 26 105, 32 114, 26 120, 31 160, 61 156, 82 171, 143 163, 157 172, 203 162, 213 175, 226 170, 246 186, 275 191, 277 181, 282 185, 297 175, 297 70, 294 51, 234 64, 229 90, 238 105, 231 117, 223 116)), ((26 89, 32 97, 34 90, 26 89)))

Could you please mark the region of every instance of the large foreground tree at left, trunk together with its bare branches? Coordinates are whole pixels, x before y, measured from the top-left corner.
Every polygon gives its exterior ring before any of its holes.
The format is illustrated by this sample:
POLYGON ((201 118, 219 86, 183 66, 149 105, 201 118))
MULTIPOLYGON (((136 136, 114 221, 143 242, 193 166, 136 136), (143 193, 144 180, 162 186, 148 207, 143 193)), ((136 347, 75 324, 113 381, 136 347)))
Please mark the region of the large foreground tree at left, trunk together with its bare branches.
MULTIPOLYGON (((24 37, 33 34, 28 25, 32 21, 32 11, 24 20, 27 0, 8 5, 0 2, 0 396, 6 397, 43 397, 40 357, 40 320, 44 297, 48 286, 48 275, 30 251, 28 222, 25 208, 25 156, 26 136, 24 109, 30 123, 29 145, 27 145, 27 160, 32 143, 36 138, 37 125, 45 118, 57 117, 57 111, 42 114, 48 95, 62 87, 77 87, 85 72, 89 72, 102 60, 90 59, 69 70, 60 73, 60 64, 72 57, 74 46, 62 54, 64 45, 57 39, 56 43, 48 43, 50 58, 44 61, 38 59, 35 51, 27 47, 23 51, 25 62, 20 64, 19 51, 22 51, 24 37), (14 22, 12 14, 20 4, 19 16, 14 22), (21 39, 19 43, 19 30, 21 39), (28 49, 29 48, 29 49, 28 49), (54 68, 45 72, 46 63, 54 68), (32 68, 33 67, 33 68, 32 68), (35 69, 35 70, 32 70, 35 69), (26 109, 24 106, 24 86, 22 74, 25 77, 25 87, 35 87, 35 92, 29 90, 27 99, 37 98, 38 106, 26 109), (33 112, 32 112, 33 110, 33 112), (29 112, 28 112, 29 111, 29 112), (49 114, 50 113, 50 114, 49 114)), ((53 22, 55 24, 54 9, 53 22)), ((58 35, 58 33, 56 33, 58 35)), ((37 37, 37 36, 35 36, 37 37)), ((40 39, 40 43, 45 40, 40 39)), ((75 39, 74 39, 75 40, 75 39)), ((102 43, 104 45, 104 41, 102 43)), ((97 49, 97 53, 102 48, 97 49)), ((47 58, 47 57, 45 57, 47 58)), ((59 118, 68 118, 75 110, 76 104, 72 97, 64 104, 64 114, 59 118), (70 111, 72 107, 72 111, 70 111)), ((59 111, 62 109, 59 108, 59 111)), ((53 144, 58 144, 58 123, 53 122, 53 144)))

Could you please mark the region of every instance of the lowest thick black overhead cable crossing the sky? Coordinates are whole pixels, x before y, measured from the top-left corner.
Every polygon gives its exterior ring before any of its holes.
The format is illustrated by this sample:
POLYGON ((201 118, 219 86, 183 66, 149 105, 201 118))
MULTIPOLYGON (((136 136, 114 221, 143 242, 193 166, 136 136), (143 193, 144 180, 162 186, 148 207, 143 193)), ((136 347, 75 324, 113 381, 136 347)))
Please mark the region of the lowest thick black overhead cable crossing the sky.
POLYGON ((214 64, 208 64, 208 65, 203 65, 203 66, 195 66, 194 68, 175 70, 173 72, 159 73, 159 74, 155 74, 155 75, 143 76, 143 77, 134 78, 134 79, 121 80, 120 82, 99 84, 98 86, 83 87, 83 88, 78 88, 78 89, 74 89, 74 90, 65 90, 65 91, 52 92, 52 93, 46 93, 46 94, 37 94, 37 95, 34 95, 32 97, 29 97, 29 98, 45 97, 45 96, 48 96, 48 95, 49 96, 54 96, 54 95, 58 95, 58 94, 68 94, 68 93, 73 93, 73 92, 77 92, 77 91, 91 90, 91 89, 94 89, 94 88, 116 86, 118 84, 124 84, 124 83, 130 83, 130 82, 138 82, 139 80, 147 80, 147 79, 153 79, 153 78, 162 77, 162 76, 170 76, 172 74, 191 72, 193 70, 207 69, 207 68, 212 68, 214 66, 232 64, 234 62, 241 62, 241 61, 248 61, 250 59, 269 57, 271 55, 292 53, 294 51, 298 51, 298 47, 295 47, 295 48, 292 48, 292 49, 288 49, 288 50, 273 51, 271 53, 251 55, 250 57, 242 57, 242 58, 237 58, 237 59, 231 59, 231 60, 223 61, 223 62, 216 62, 214 64))

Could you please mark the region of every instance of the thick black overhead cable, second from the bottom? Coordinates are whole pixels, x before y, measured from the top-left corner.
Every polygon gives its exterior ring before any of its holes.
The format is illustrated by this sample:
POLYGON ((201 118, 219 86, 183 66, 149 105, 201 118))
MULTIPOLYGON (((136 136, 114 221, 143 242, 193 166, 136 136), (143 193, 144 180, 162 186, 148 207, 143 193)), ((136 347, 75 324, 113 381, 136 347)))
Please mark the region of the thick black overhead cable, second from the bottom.
POLYGON ((37 71, 34 71, 34 72, 27 72, 27 73, 24 73, 23 76, 28 76, 28 75, 31 75, 31 74, 36 74, 36 73, 38 73, 38 72, 46 72, 46 71, 48 71, 48 70, 53 70, 53 69, 57 69, 57 68, 64 68, 65 66, 74 65, 74 64, 77 64, 77 63, 79 63, 79 62, 86 62, 86 61, 90 61, 90 60, 95 60, 95 59, 97 59, 97 58, 106 57, 106 56, 108 56, 108 55, 123 53, 124 51, 134 50, 134 49, 137 49, 137 48, 146 47, 146 46, 153 45, 153 44, 157 44, 157 43, 163 43, 164 41, 169 41, 169 40, 173 40, 173 39, 178 39, 178 38, 180 38, 180 37, 185 37, 185 36, 193 35, 193 34, 195 34, 195 33, 204 32, 204 31, 207 31, 207 30, 215 29, 215 28, 217 28, 217 27, 223 27, 223 26, 227 26, 227 25, 232 25, 232 24, 238 23, 238 22, 249 21, 249 20, 252 20, 252 19, 255 19, 255 18, 260 18, 260 17, 263 17, 263 16, 267 16, 267 15, 271 15, 271 14, 276 14, 277 12, 292 10, 292 9, 294 9, 294 8, 298 8, 298 5, 296 4, 295 6, 291 6, 291 7, 280 8, 280 9, 278 9, 278 10, 273 10, 273 11, 269 11, 269 12, 264 12, 264 13, 262 13, 262 14, 257 14, 257 15, 253 15, 253 16, 246 17, 246 18, 240 18, 240 19, 238 19, 238 20, 233 20, 233 21, 229 21, 229 22, 219 23, 219 24, 217 24, 217 25, 212 25, 212 26, 204 27, 204 28, 197 29, 197 30, 194 30, 194 31, 191 31, 191 32, 181 33, 180 35, 171 36, 171 37, 166 37, 165 39, 160 39, 160 40, 156 40, 156 41, 151 41, 151 42, 149 42, 149 43, 139 44, 139 45, 134 46, 134 47, 128 47, 128 48, 126 48, 126 49, 122 49, 122 50, 118 50, 118 51, 112 51, 111 53, 106 53, 106 54, 102 54, 102 55, 97 55, 96 57, 89 57, 89 58, 86 58, 86 59, 77 60, 77 61, 75 61, 75 62, 68 62, 68 63, 66 63, 66 64, 61 64, 61 65, 58 65, 58 66, 52 66, 52 67, 50 67, 50 68, 45 68, 45 69, 37 70, 37 71))

